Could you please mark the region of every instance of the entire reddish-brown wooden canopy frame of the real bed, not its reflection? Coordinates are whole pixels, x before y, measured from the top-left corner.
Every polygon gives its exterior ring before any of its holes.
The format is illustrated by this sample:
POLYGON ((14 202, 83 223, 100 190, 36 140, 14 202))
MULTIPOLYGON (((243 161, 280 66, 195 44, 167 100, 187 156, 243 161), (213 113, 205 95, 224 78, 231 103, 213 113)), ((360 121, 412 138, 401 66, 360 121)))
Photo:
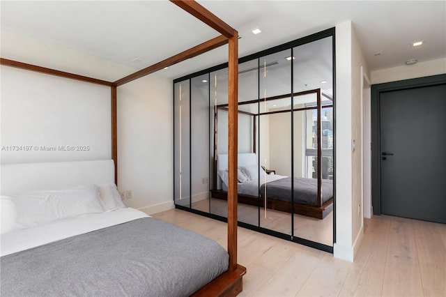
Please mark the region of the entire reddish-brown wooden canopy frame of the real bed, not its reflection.
POLYGON ((226 24, 219 17, 210 13, 209 10, 201 6, 194 0, 170 0, 176 6, 187 11, 197 19, 201 20, 208 26, 215 29, 221 35, 213 39, 201 43, 195 47, 180 52, 175 56, 148 66, 142 70, 132 73, 126 77, 116 80, 116 82, 107 82, 101 79, 66 73, 59 70, 40 67, 19 61, 13 61, 0 58, 0 65, 21 68, 25 70, 36 71, 48 75, 56 75, 69 79, 77 79, 82 82, 91 84, 100 84, 109 86, 111 89, 111 107, 112 107, 112 159, 115 166, 115 183, 118 181, 118 137, 117 137, 117 87, 134 79, 138 79, 162 70, 165 67, 172 66, 181 61, 185 61, 204 52, 214 50, 217 47, 229 44, 229 147, 228 147, 228 254, 229 267, 228 271, 217 277, 215 280, 207 284, 205 287, 196 292, 196 296, 236 296, 242 291, 242 277, 246 273, 246 268, 237 264, 237 127, 238 127, 238 31, 226 24))

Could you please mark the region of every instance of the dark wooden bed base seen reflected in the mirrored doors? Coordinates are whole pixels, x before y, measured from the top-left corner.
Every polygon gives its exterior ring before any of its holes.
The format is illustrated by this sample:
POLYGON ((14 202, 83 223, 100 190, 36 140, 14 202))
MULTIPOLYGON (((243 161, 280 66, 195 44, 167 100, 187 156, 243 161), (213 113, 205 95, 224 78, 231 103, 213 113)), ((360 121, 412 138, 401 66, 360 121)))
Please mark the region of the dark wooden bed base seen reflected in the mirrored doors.
MULTIPOLYGON (((213 198, 223 200, 227 199, 226 192, 222 190, 210 190, 210 192, 213 198)), ((238 194, 238 202, 252 206, 259 206, 259 197, 238 194)), ((286 213, 291 213, 292 203, 289 201, 268 198, 266 204, 268 208, 274 209, 275 211, 284 211, 286 213)), ((265 206, 265 201, 263 199, 260 199, 260 206, 265 206)), ((333 211, 333 197, 325 201, 325 203, 321 207, 295 202, 293 208, 293 212, 297 213, 298 215, 306 215, 307 217, 322 220, 333 211)))

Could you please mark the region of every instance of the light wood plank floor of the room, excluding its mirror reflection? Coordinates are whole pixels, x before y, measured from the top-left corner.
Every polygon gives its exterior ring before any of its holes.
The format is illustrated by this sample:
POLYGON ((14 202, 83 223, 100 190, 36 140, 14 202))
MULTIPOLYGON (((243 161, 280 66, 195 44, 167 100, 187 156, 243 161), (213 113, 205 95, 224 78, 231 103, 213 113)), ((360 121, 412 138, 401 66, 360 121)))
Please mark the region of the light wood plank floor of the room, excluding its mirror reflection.
MULTIPOLYGON (((153 216, 226 248, 224 222, 176 209, 153 216)), ((364 226, 353 263, 239 227, 240 296, 446 296, 446 224, 381 215, 364 226)))

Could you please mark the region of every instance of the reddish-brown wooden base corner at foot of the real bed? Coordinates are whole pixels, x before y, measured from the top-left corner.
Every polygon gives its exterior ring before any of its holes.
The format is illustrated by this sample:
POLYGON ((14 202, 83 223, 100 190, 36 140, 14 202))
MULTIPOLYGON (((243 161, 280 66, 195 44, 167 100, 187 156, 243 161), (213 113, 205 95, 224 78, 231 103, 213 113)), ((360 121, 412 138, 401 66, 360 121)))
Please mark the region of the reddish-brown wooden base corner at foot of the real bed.
POLYGON ((246 273, 246 268, 237 264, 235 271, 226 271, 215 280, 206 284, 199 291, 192 294, 192 297, 233 297, 243 290, 242 277, 246 273))

